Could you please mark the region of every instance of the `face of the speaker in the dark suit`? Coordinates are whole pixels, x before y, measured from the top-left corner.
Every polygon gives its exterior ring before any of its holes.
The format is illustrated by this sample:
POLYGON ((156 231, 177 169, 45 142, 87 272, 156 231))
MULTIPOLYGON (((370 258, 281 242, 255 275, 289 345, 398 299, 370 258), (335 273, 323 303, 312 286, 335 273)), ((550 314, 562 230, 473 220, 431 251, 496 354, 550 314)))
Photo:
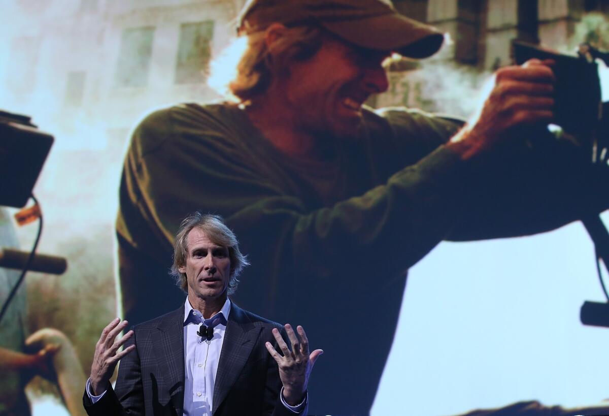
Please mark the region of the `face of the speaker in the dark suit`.
POLYGON ((231 274, 228 248, 212 243, 199 228, 188 233, 186 246, 186 265, 178 271, 186 274, 189 298, 225 298, 231 274))

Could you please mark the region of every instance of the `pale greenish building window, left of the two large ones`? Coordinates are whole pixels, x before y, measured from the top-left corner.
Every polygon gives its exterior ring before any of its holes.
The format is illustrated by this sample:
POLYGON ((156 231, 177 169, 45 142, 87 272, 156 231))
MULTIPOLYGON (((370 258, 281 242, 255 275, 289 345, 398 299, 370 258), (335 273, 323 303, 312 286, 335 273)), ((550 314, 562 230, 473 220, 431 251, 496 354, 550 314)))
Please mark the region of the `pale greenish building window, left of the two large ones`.
POLYGON ((124 29, 114 83, 117 87, 144 87, 148 82, 154 27, 124 29))

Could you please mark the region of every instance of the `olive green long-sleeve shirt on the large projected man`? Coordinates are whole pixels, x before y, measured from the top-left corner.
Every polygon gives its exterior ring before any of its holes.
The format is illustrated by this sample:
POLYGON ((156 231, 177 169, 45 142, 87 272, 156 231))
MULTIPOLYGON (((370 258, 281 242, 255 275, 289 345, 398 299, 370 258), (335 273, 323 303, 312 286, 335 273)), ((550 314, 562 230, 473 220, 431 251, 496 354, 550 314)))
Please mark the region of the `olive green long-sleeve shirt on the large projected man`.
MULTIPOLYGON (((357 137, 320 138, 336 154, 312 161, 282 154, 238 106, 185 104, 153 113, 133 133, 121 182, 127 319, 177 307, 172 301, 183 295, 166 273, 173 236, 188 213, 218 213, 252 263, 234 299, 303 325, 331 357, 315 367, 309 410, 365 414, 409 267, 445 238, 565 224, 588 195, 581 182, 588 173, 562 170, 563 160, 579 157, 569 154, 571 146, 541 137, 533 150, 523 141, 466 163, 443 146, 458 127, 416 111, 364 110, 357 137)), ((591 198, 584 205, 603 204, 591 198)))

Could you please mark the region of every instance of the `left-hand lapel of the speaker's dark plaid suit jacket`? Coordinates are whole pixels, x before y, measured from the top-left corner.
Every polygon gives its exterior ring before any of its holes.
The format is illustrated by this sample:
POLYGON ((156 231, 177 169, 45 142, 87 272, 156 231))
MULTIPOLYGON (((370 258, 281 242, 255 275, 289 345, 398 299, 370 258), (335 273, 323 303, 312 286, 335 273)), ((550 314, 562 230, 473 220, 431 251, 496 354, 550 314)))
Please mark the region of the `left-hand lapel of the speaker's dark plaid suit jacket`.
POLYGON ((176 413, 184 406, 184 306, 167 314, 152 334, 158 365, 158 402, 165 406, 171 399, 176 413))

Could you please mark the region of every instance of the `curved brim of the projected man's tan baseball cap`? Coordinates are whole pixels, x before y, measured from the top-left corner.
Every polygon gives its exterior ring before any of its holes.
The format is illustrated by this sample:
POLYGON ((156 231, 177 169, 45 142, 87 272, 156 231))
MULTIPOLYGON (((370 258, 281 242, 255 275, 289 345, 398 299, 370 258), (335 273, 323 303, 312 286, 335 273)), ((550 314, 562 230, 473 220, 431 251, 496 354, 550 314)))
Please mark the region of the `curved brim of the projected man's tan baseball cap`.
POLYGON ((355 20, 322 21, 320 24, 362 48, 398 52, 409 58, 432 56, 444 42, 444 34, 435 27, 398 13, 355 20))

